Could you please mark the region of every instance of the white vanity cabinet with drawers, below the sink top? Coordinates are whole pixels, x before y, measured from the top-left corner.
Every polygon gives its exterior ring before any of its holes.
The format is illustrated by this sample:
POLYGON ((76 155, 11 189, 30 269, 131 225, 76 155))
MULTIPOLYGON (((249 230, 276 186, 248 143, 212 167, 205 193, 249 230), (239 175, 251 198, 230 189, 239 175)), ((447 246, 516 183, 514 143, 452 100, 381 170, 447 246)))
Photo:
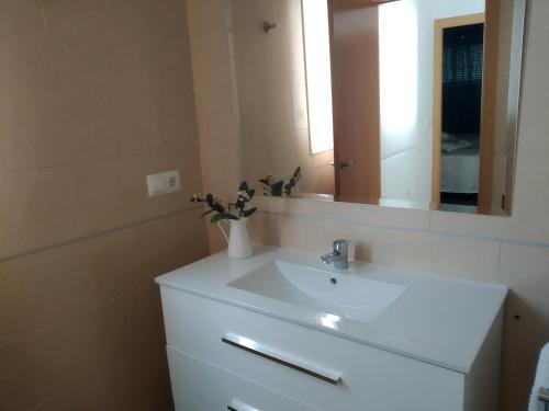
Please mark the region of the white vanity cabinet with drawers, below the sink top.
POLYGON ((178 411, 496 410, 501 310, 464 373, 306 327, 277 306, 225 300, 206 292, 212 277, 202 276, 203 289, 184 278, 158 279, 178 411))

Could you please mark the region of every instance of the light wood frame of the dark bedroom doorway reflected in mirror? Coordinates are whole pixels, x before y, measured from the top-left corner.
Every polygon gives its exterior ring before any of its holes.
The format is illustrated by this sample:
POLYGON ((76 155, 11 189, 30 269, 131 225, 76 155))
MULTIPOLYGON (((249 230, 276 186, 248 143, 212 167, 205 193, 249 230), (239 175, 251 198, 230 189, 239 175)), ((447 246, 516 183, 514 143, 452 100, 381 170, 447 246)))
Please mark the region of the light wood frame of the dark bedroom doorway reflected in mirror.
MULTIPOLYGON (((442 156, 441 156, 441 139, 442 139, 442 48, 444 48, 444 31, 446 28, 451 28, 451 27, 460 27, 464 25, 472 25, 472 24, 480 24, 484 23, 485 24, 485 14, 484 13, 475 13, 475 14, 467 14, 467 15, 459 15, 456 18, 448 18, 448 19, 439 19, 435 20, 435 26, 434 26, 434 53, 433 53, 433 60, 434 60, 434 69, 433 69, 433 78, 434 78, 434 84, 433 84, 433 153, 432 153, 432 159, 433 159, 433 167, 432 167, 432 189, 430 189, 430 209, 438 209, 438 206, 440 204, 440 168, 441 168, 441 161, 442 161, 442 156)), ((485 44, 485 42, 484 42, 485 44)), ((484 61, 485 64, 485 61, 484 61)), ((485 67, 484 67, 485 68, 485 67)), ((483 69, 483 72, 485 72, 485 69, 483 69)), ((482 83, 483 83, 483 94, 484 94, 484 76, 482 78, 482 83)), ((482 96, 483 104, 483 113, 482 115, 484 116, 484 95, 482 96)), ((489 137, 488 135, 483 135, 481 126, 481 135, 480 135, 480 140, 481 140, 481 146, 482 141, 489 137)), ((490 137, 489 137, 490 138, 490 137)), ((492 140, 493 140, 493 134, 492 134, 492 140)), ((493 146, 493 142, 492 142, 493 146)), ((481 147, 481 170, 483 169, 482 162, 483 158, 485 156, 482 156, 482 147, 481 147)), ((479 187, 479 198, 481 197, 481 186, 479 187)))

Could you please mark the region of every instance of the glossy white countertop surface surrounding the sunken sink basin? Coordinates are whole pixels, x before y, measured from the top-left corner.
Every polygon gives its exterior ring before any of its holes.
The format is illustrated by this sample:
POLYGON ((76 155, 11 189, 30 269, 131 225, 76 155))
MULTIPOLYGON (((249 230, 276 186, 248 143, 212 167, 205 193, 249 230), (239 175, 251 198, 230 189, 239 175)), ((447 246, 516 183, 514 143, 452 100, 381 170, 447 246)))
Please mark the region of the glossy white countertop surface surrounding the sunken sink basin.
POLYGON ((156 282, 463 374, 469 374, 507 294, 500 285, 351 263, 350 274, 399 284, 406 292, 371 323, 343 318, 336 327, 326 327, 320 321, 323 313, 227 286, 271 261, 329 271, 320 255, 266 246, 254 251, 247 260, 229 260, 226 251, 221 252, 159 276, 156 282))

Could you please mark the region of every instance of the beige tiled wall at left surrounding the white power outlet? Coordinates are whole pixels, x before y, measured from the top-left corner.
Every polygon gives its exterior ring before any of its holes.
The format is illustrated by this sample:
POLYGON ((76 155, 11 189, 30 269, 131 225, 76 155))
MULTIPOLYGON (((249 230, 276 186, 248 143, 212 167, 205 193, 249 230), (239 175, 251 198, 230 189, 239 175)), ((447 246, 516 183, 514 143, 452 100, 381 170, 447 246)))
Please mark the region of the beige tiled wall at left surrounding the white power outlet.
POLYGON ((187 31, 184 0, 0 1, 0 410, 172 408, 153 279, 208 252, 187 31))

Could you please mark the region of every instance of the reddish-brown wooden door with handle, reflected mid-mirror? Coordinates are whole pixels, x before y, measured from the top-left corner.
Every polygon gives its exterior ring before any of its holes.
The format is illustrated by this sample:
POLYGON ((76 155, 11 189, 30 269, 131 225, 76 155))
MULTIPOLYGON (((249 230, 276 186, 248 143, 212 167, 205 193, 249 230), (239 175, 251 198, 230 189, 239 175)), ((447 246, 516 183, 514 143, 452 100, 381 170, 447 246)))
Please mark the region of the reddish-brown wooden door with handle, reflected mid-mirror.
POLYGON ((327 3, 335 199, 377 205, 381 197, 378 2, 327 3))

